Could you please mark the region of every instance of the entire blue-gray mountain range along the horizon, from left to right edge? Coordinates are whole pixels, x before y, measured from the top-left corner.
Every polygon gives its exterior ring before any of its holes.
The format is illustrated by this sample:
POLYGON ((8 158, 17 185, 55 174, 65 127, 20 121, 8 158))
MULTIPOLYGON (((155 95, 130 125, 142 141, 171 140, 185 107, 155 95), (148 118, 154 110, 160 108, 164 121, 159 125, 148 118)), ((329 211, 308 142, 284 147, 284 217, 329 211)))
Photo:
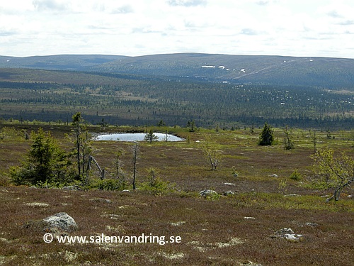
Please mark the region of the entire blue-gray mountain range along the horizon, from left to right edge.
POLYGON ((331 57, 176 53, 0 57, 0 67, 134 74, 169 80, 354 90, 354 60, 331 57))

